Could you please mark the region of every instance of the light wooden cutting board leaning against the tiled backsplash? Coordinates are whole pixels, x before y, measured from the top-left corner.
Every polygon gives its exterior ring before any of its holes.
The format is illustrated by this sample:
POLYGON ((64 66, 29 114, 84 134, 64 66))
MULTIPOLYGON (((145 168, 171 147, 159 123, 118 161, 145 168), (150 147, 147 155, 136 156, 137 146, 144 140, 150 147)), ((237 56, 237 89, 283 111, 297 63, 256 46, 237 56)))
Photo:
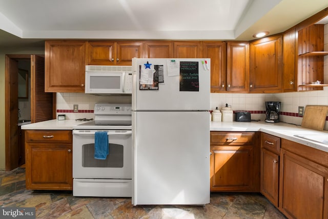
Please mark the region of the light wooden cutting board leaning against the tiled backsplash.
POLYGON ((312 106, 305 107, 305 112, 302 120, 302 127, 322 131, 326 116, 328 113, 328 106, 312 106))

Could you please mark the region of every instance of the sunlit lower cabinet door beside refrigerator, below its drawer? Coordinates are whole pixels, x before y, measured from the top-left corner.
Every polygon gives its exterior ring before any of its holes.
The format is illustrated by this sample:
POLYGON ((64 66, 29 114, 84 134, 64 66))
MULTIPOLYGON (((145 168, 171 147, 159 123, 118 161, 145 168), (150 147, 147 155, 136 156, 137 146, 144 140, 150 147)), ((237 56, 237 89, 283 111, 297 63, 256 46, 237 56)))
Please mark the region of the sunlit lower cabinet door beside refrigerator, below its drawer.
POLYGON ((211 153, 211 191, 259 191, 254 146, 211 146, 211 153))

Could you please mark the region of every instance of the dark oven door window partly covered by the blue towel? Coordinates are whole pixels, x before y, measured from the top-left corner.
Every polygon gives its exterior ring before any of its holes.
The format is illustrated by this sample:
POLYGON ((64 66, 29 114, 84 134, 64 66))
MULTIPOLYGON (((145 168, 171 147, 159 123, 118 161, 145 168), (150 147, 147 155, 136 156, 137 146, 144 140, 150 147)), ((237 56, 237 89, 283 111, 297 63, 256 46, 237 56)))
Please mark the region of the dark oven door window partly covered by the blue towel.
POLYGON ((82 146, 82 166, 83 167, 112 167, 121 168, 124 162, 123 145, 109 143, 109 154, 106 160, 94 158, 94 144, 82 146))

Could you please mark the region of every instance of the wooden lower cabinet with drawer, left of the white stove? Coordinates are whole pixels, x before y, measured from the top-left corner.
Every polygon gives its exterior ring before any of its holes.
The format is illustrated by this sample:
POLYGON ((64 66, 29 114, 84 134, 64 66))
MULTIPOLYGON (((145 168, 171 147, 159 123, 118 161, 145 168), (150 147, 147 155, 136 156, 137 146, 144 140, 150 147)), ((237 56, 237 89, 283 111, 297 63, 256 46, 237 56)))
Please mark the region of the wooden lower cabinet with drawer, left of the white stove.
POLYGON ((72 190, 72 131, 26 130, 26 188, 72 190))

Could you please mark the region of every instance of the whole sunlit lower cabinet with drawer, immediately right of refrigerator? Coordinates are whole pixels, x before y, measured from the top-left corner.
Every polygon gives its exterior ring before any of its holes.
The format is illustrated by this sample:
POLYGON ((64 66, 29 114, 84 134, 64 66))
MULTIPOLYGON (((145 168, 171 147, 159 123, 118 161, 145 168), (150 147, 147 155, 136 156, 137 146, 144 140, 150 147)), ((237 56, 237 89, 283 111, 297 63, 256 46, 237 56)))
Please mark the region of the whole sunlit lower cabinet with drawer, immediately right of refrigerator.
POLYGON ((211 131, 211 191, 259 192, 258 132, 211 131))

